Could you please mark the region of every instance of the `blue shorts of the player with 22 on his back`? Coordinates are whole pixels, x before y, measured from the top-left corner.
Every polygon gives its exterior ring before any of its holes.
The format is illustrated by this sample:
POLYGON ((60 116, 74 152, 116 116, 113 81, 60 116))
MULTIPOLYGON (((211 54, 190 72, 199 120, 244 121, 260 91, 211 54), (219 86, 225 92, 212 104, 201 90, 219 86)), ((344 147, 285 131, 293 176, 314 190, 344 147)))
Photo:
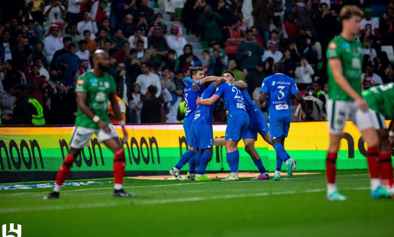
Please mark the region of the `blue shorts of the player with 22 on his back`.
POLYGON ((239 141, 242 139, 242 135, 249 127, 249 115, 248 114, 237 114, 235 116, 229 116, 226 127, 225 140, 227 141, 239 141))

